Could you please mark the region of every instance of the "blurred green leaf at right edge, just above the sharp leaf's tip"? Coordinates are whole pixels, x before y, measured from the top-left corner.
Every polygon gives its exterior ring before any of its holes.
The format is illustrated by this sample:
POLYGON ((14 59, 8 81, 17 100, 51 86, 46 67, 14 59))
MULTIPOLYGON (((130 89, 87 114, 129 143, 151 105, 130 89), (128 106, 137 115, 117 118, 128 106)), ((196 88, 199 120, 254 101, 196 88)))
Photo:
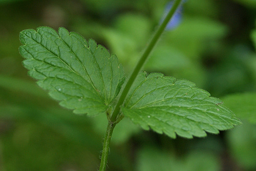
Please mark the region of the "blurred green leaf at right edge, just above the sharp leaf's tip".
POLYGON ((239 118, 256 124, 256 93, 238 93, 223 97, 228 106, 239 118))

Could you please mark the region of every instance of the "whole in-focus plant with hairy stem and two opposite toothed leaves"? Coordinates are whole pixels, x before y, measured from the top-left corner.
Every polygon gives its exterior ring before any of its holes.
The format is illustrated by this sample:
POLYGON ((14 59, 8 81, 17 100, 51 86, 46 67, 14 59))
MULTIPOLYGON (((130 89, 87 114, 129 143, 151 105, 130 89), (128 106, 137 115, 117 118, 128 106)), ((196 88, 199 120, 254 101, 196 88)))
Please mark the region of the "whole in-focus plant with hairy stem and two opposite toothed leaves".
POLYGON ((52 98, 76 114, 106 115, 108 127, 103 143, 100 170, 106 169, 115 125, 130 118, 142 129, 171 138, 205 137, 240 124, 221 100, 193 82, 161 73, 141 72, 148 55, 182 1, 174 2, 131 76, 125 80, 117 56, 93 39, 75 32, 49 27, 20 32, 20 54, 37 84, 52 98))

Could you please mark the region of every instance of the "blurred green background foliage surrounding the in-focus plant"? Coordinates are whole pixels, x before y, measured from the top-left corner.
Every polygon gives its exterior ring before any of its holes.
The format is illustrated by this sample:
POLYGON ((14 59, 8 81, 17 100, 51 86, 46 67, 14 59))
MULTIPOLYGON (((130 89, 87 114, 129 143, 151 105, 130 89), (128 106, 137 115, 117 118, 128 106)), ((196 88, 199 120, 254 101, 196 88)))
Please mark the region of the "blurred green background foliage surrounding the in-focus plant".
MULTIPOLYGON (((65 27, 115 53, 128 75, 167 0, 0 0, 0 170, 96 170, 106 117, 61 108, 27 75, 24 29, 65 27)), ((175 140, 123 119, 109 170, 256 170, 256 1, 188 0, 144 70, 193 81, 221 98, 243 125, 175 140)))

